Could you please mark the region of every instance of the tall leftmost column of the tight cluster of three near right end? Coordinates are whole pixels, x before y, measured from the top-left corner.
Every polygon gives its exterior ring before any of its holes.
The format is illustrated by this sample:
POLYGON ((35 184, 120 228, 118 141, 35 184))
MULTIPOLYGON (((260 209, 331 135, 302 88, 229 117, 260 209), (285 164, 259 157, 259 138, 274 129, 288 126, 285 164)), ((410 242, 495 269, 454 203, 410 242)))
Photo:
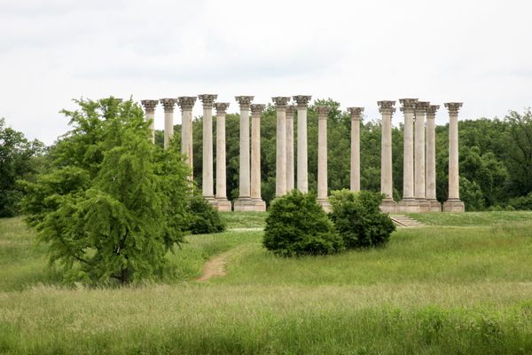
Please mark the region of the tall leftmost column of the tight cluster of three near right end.
POLYGON ((403 130, 403 199, 397 204, 399 212, 418 212, 414 199, 414 108, 418 99, 400 99, 404 115, 403 130))

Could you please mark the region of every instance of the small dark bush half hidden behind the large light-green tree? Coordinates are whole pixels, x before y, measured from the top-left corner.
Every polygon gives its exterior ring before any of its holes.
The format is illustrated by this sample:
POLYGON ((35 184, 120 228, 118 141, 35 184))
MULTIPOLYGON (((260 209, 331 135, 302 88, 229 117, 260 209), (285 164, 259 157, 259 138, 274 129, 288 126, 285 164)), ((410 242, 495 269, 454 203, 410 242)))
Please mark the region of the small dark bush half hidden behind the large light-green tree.
POLYGON ((225 230, 220 213, 200 193, 192 195, 189 208, 189 230, 192 234, 220 233, 225 230))

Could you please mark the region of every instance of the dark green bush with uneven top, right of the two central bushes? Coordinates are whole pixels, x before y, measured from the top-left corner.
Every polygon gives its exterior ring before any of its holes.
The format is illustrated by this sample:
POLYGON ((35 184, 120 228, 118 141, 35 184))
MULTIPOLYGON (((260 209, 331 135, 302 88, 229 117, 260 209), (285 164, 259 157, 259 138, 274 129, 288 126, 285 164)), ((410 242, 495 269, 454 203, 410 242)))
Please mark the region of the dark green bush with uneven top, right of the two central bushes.
POLYGON ((380 212, 380 193, 341 190, 332 192, 329 201, 329 217, 348 249, 383 246, 395 231, 390 217, 380 212))

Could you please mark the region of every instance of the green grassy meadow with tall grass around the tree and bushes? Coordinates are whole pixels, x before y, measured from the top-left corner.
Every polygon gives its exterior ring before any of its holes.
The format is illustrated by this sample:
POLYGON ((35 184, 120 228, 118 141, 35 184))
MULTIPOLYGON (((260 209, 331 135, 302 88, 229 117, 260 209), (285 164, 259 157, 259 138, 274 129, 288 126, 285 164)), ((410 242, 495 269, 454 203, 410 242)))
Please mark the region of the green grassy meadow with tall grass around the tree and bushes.
MULTIPOLYGON (((231 229, 265 214, 225 214, 231 229)), ((66 288, 0 220, 0 353, 532 353, 532 214, 412 215, 387 248, 271 256, 262 231, 187 237, 164 283, 66 288), (227 276, 195 281, 230 250, 227 276)))

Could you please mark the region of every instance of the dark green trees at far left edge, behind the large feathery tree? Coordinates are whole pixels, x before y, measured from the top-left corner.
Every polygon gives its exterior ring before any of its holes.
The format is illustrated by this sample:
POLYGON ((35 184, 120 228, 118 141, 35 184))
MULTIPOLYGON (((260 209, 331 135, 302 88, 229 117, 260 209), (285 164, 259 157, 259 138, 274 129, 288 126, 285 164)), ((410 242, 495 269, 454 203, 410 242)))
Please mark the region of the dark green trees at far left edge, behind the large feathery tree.
POLYGON ((23 192, 17 180, 31 178, 37 172, 43 153, 42 142, 28 141, 0 118, 0 217, 19 214, 23 192))

